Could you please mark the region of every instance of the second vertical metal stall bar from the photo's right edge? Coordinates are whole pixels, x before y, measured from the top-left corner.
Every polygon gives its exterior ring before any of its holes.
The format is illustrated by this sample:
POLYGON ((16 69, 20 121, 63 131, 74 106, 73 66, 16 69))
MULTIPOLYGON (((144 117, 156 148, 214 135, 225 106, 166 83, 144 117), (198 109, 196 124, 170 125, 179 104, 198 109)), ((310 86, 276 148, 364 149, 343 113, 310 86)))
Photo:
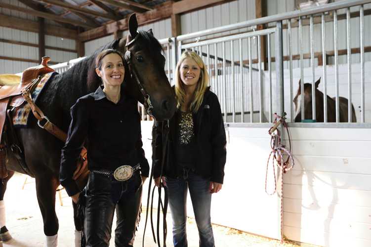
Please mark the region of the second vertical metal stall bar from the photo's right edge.
POLYGON ((346 9, 346 46, 348 63, 348 123, 352 123, 352 53, 350 50, 350 8, 346 9))

